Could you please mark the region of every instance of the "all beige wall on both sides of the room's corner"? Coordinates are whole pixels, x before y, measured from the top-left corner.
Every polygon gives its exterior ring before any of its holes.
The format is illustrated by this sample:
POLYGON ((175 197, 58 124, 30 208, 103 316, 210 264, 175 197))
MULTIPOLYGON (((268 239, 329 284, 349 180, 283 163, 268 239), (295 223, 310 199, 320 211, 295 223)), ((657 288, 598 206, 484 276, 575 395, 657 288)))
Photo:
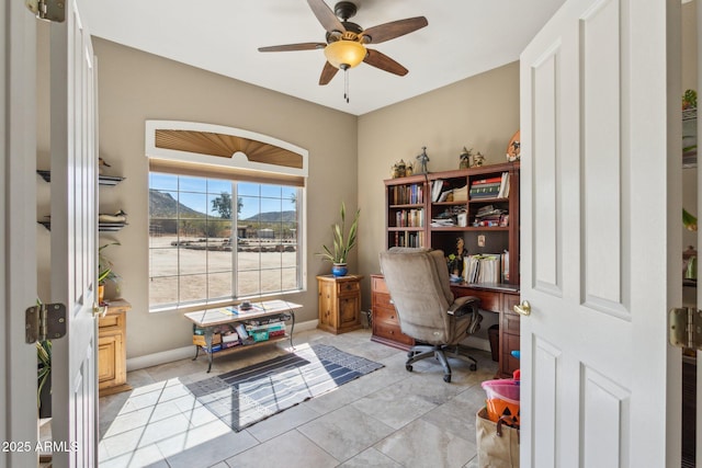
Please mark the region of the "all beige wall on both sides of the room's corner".
MULTIPOLYGON (((41 43, 47 41, 44 33, 42 28, 41 43)), ((485 153, 487 163, 501 162, 519 126, 517 64, 356 118, 109 41, 95 39, 94 48, 100 77, 100 156, 112 164, 107 173, 126 176, 115 187, 100 189, 100 210, 124 209, 129 216, 129 226, 122 231, 101 236, 101 243, 112 239, 122 243, 109 253, 123 277, 120 295, 134 307, 127 320, 128 358, 186 346, 191 332, 179 312, 148 312, 145 119, 240 127, 309 151, 307 292, 291 297, 305 306, 299 321, 317 318, 315 276, 328 273, 329 265, 314 252, 329 242, 329 226, 338 216, 341 199, 350 210, 356 203, 362 210, 358 261, 352 255, 350 269, 365 275, 363 306, 367 309, 369 275, 378 271, 377 253, 385 247, 383 180, 390 165, 400 158, 414 160, 422 146, 428 147, 430 171, 457 168, 464 145, 485 153)), ((39 54, 42 70, 47 71, 46 62, 45 54, 39 54)), ((45 83, 46 73, 41 73, 39 80, 45 83)), ((38 105, 39 114, 46 115, 48 95, 41 98, 38 105)), ((42 134, 39 167, 48 163, 49 148, 48 128, 42 134)), ((48 184, 37 181, 37 190, 41 215, 48 206, 48 184)), ((49 233, 37 229, 39 255, 48 256, 49 233)), ((47 272, 41 276, 46 279, 47 272)), ((109 288, 109 294, 115 293, 109 288)))

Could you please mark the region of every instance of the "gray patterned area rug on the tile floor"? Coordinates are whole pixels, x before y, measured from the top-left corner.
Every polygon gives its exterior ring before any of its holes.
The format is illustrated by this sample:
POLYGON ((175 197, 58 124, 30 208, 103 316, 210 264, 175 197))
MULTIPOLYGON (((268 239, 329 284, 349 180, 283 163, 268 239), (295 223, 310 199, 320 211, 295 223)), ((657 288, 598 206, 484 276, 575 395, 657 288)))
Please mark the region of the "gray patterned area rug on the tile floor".
POLYGON ((185 387, 238 432, 381 367, 333 346, 313 344, 185 387))

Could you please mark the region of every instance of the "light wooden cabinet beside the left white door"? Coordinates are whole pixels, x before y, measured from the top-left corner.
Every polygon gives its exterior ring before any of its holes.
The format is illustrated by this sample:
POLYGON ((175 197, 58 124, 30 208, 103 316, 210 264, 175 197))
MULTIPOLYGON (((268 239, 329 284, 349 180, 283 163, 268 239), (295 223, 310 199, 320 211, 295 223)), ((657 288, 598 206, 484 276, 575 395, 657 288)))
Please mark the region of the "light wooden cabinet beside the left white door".
POLYGON ((100 396, 131 390, 127 385, 126 330, 129 303, 111 300, 98 321, 98 388, 100 396))

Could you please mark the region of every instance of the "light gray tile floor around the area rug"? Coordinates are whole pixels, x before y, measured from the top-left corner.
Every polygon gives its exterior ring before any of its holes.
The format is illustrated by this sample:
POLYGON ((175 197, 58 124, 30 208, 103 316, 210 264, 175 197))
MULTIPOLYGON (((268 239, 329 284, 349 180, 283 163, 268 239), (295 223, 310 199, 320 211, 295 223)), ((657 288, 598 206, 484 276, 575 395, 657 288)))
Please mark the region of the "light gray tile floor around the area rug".
POLYGON ((438 363, 405 369, 404 351, 373 343, 369 330, 296 333, 385 365, 321 397, 236 433, 202 407, 182 381, 206 378, 285 352, 282 343, 206 361, 131 372, 131 392, 100 398, 100 467, 458 467, 477 466, 475 413, 480 381, 497 363, 476 350, 478 370, 452 359, 445 384, 438 363), (280 346, 280 347, 279 347, 280 346))

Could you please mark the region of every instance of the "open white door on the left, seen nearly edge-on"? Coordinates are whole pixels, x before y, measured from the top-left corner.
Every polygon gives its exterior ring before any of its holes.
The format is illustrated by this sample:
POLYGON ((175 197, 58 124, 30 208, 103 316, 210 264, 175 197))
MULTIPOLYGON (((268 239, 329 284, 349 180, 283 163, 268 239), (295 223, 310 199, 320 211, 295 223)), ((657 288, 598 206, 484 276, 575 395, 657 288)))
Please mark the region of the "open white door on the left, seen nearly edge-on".
POLYGON ((97 453, 97 135, 90 35, 75 0, 52 24, 52 301, 66 305, 67 339, 54 343, 54 467, 92 467, 97 453))

